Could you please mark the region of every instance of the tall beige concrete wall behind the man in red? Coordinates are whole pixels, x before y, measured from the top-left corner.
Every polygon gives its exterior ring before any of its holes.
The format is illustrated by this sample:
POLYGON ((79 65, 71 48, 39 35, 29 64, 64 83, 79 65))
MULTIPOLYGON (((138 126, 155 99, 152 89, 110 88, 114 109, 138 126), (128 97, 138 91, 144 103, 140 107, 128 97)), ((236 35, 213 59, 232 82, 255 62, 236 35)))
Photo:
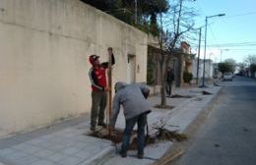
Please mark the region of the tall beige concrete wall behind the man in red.
POLYGON ((0 138, 90 112, 90 54, 107 60, 113 82, 146 82, 147 34, 79 0, 0 1, 0 138))

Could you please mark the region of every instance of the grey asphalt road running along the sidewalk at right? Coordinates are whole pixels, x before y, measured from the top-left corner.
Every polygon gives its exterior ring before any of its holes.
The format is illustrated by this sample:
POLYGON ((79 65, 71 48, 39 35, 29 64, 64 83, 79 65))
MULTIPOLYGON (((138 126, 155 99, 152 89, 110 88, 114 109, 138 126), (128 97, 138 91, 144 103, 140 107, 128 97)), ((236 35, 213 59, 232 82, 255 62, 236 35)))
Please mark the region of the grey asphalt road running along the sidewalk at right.
POLYGON ((256 81, 223 82, 214 109, 172 165, 256 164, 256 81))

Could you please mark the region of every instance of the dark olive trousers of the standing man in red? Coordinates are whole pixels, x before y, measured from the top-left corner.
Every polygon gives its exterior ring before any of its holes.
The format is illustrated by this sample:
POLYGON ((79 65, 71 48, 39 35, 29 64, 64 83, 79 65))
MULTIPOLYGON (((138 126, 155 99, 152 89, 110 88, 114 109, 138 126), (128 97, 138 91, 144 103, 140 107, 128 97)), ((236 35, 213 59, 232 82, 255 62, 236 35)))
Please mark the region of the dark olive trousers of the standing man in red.
POLYGON ((92 109, 91 109, 91 126, 96 127, 96 120, 98 123, 103 123, 104 112, 106 107, 106 92, 92 91, 92 109))

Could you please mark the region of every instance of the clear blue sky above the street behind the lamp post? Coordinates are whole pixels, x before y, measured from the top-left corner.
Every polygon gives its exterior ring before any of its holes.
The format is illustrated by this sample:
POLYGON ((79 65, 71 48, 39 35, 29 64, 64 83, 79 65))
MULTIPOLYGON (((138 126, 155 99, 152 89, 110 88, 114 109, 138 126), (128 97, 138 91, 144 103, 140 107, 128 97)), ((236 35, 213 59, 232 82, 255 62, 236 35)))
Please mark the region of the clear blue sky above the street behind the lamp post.
MULTIPOLYGON (((196 0, 191 5, 199 14, 195 27, 203 27, 200 51, 202 59, 206 16, 218 14, 225 14, 225 16, 208 18, 206 59, 211 58, 219 63, 232 58, 240 63, 248 55, 256 56, 255 0, 196 0)), ((197 46, 198 44, 191 44, 192 52, 197 52, 197 46)))

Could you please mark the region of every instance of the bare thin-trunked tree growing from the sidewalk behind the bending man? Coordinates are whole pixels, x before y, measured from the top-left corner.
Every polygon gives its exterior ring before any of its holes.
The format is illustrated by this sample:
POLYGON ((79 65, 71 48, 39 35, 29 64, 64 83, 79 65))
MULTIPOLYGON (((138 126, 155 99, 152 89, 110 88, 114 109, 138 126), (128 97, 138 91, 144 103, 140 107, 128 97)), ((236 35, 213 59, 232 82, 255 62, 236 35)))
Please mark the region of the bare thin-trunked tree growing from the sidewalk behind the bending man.
POLYGON ((160 15, 160 107, 162 108, 166 107, 165 73, 168 62, 180 46, 180 42, 182 41, 181 39, 184 38, 184 34, 194 26, 193 18, 195 16, 193 10, 191 11, 191 9, 184 7, 183 3, 185 0, 173 0, 172 2, 175 2, 176 4, 170 5, 170 11, 165 15, 165 17, 168 17, 168 19, 164 19, 164 23, 166 23, 165 25, 163 25, 163 19, 160 15), (163 27, 165 28, 164 31, 163 27))

